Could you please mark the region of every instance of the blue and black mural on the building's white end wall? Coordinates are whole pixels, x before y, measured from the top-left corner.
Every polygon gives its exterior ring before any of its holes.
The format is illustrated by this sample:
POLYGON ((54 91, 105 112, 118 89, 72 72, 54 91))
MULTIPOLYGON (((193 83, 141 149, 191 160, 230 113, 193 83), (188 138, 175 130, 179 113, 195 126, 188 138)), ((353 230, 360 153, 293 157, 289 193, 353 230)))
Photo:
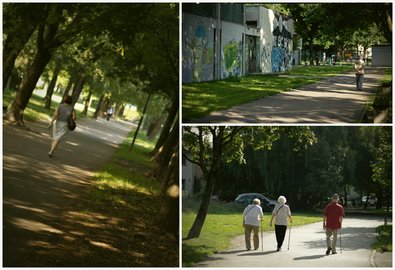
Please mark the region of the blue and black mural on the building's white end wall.
POLYGON ((273 47, 272 47, 272 72, 288 71, 292 69, 292 35, 286 29, 282 15, 275 12, 276 19, 273 30, 273 47))

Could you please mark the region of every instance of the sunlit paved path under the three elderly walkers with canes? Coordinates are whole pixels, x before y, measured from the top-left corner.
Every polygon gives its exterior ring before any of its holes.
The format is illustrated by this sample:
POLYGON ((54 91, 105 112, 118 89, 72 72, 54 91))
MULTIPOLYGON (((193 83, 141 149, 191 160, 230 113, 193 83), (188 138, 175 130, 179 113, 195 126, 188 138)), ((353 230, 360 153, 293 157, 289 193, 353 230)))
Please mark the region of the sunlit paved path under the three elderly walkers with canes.
MULTIPOLYGON (((245 245, 219 252, 194 264, 194 268, 370 268, 393 266, 393 253, 384 254, 381 261, 375 260, 379 252, 372 252, 370 245, 375 242, 375 228, 384 224, 383 215, 346 212, 336 245, 337 254, 326 255, 326 236, 322 222, 291 228, 288 248, 289 229, 285 235, 282 251, 276 251, 276 235, 263 237, 263 251, 247 251, 245 245), (376 265, 376 263, 378 265, 376 265)), ((296 218, 296 216, 294 217, 296 218)), ((388 219, 392 224, 392 217, 388 219)), ((252 244, 253 246, 253 244, 252 244)))

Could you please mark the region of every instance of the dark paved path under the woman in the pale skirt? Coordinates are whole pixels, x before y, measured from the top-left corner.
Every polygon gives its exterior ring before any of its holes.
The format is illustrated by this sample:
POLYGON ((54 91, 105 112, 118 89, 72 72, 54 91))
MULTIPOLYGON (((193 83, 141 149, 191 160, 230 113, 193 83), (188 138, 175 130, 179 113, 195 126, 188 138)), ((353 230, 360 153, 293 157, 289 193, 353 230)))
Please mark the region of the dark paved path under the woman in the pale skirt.
POLYGON ((27 259, 132 128, 102 118, 77 120, 68 142, 50 158, 48 124, 25 121, 35 132, 2 125, 2 267, 18 267, 27 259))

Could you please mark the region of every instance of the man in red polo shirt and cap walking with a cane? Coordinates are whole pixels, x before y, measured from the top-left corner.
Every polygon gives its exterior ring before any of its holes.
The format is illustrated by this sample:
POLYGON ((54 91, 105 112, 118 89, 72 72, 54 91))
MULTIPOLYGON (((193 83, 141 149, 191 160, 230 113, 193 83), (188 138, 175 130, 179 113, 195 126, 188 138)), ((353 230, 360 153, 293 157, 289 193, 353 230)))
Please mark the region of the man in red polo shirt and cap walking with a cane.
POLYGON ((325 207, 324 211, 324 225, 322 226, 326 234, 326 255, 332 250, 332 254, 336 254, 336 242, 337 242, 337 232, 342 228, 342 222, 344 217, 344 209, 338 204, 339 195, 333 194, 332 203, 325 207), (326 225, 325 225, 326 220, 326 225), (333 233, 332 245, 330 243, 330 237, 333 233))

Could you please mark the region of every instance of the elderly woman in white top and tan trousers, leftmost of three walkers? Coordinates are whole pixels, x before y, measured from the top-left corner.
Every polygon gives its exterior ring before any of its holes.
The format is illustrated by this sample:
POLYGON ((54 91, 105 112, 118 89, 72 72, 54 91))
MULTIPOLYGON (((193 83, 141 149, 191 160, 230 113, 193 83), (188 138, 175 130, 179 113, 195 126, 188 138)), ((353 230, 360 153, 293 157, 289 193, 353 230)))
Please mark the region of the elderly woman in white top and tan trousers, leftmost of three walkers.
POLYGON ((252 205, 248 205, 243 212, 243 227, 245 233, 245 247, 247 250, 251 250, 251 230, 254 230, 254 249, 259 248, 259 217, 261 222, 263 221, 263 212, 261 201, 254 199, 252 205))

